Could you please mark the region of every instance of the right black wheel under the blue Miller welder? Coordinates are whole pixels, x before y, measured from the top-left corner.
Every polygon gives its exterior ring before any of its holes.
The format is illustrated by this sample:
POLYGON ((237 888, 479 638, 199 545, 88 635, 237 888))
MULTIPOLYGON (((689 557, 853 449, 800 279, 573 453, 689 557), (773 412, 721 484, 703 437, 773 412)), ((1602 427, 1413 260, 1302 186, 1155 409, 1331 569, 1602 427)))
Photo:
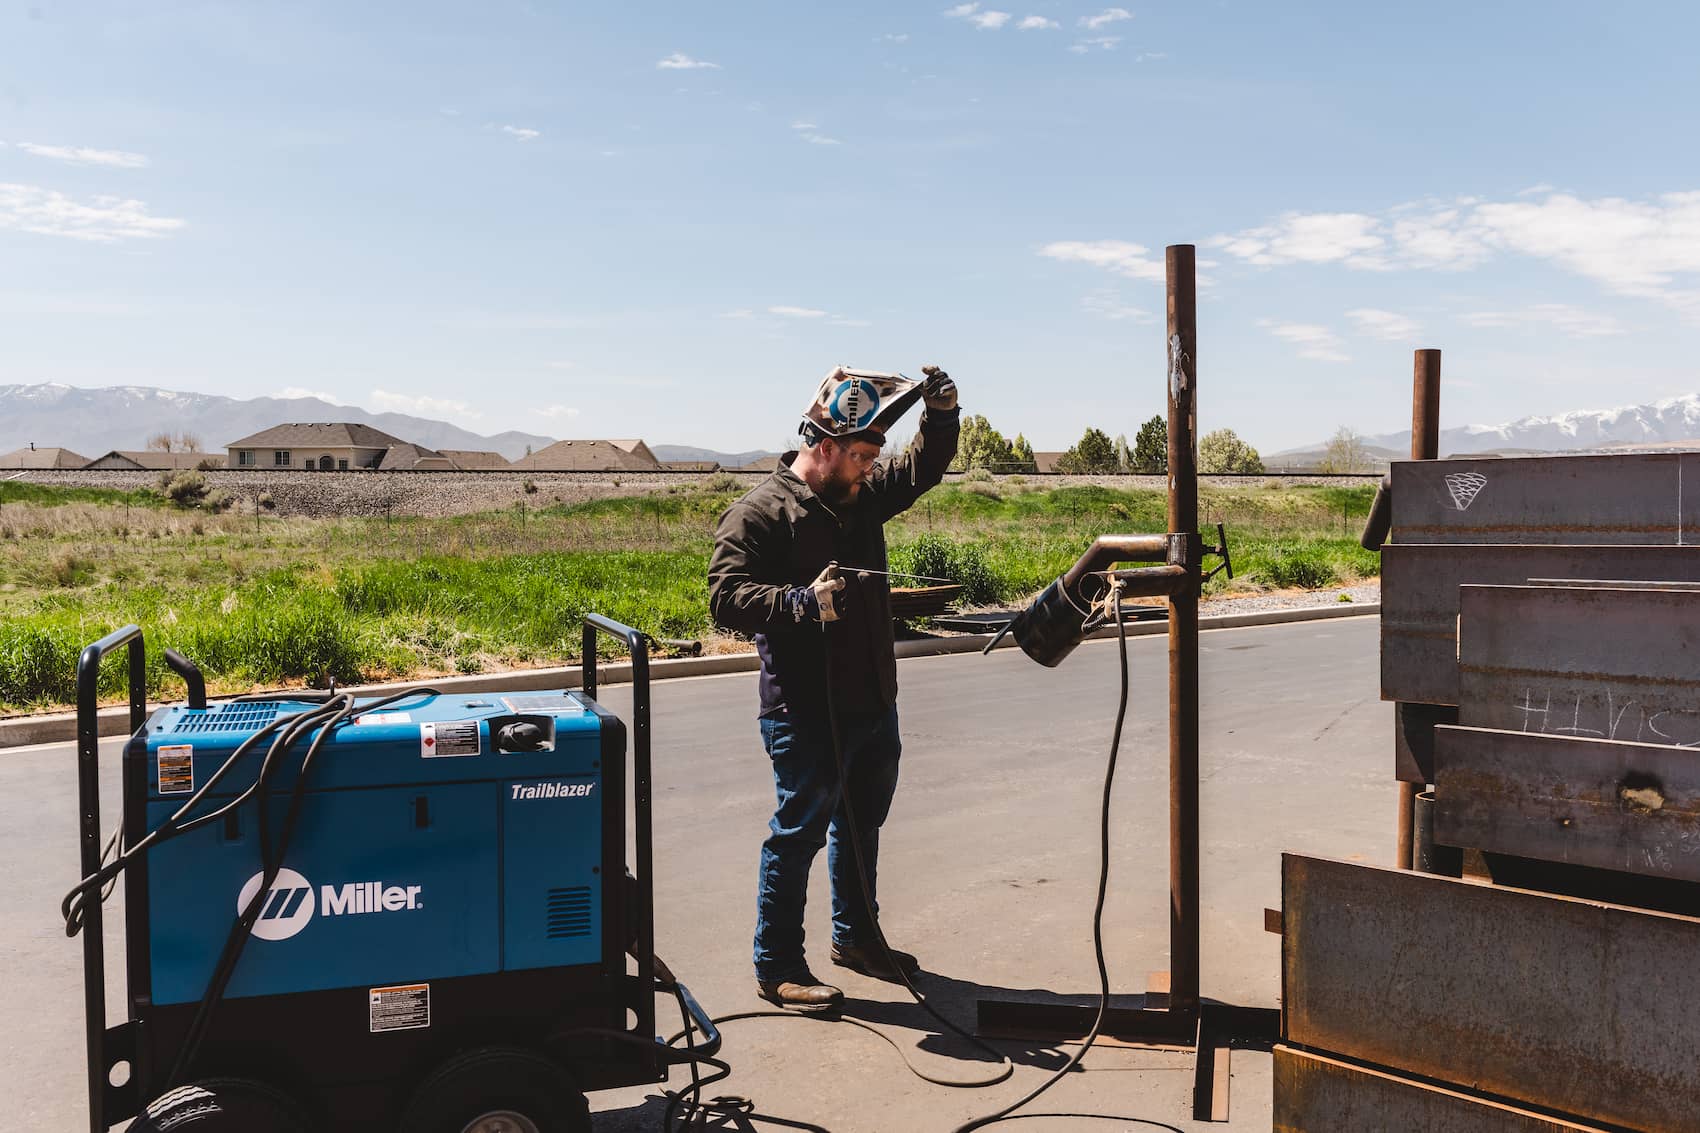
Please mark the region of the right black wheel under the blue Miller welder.
POLYGON ((590 1133, 590 1102, 573 1075, 542 1055, 483 1046, 425 1079, 401 1133, 590 1133))

